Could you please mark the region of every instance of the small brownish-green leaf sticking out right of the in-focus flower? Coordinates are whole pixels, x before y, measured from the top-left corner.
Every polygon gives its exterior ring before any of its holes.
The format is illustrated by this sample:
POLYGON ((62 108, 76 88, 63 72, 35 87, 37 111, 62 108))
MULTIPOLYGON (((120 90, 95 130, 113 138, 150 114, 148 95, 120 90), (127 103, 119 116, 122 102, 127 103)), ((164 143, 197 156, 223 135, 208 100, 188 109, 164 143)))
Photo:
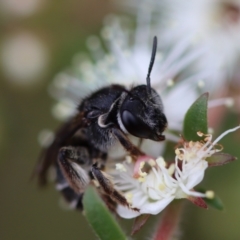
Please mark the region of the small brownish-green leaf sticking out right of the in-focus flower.
POLYGON ((211 157, 208 157, 206 161, 209 167, 221 166, 229 162, 237 160, 236 157, 228 153, 214 153, 211 157))

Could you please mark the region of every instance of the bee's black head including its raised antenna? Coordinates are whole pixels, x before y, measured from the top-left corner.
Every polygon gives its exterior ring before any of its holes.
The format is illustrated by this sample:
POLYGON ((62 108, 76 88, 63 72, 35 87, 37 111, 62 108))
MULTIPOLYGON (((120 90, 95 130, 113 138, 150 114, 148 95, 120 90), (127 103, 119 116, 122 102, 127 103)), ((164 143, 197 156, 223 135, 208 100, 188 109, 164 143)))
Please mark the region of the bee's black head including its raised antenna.
POLYGON ((167 127, 167 119, 163 113, 161 98, 150 85, 156 49, 157 38, 154 37, 147 85, 137 86, 125 94, 120 105, 119 117, 126 132, 139 138, 161 141, 165 139, 162 132, 167 127))

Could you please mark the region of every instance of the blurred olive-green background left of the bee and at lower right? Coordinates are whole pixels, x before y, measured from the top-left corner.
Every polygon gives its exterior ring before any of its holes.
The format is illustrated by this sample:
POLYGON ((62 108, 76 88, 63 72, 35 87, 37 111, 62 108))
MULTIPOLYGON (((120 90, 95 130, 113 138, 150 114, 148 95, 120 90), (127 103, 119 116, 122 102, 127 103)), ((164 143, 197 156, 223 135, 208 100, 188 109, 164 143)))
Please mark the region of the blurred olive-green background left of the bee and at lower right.
MULTIPOLYGON (((104 16, 117 10, 106 0, 0 4, 0 239, 96 239, 79 212, 59 207, 53 185, 40 190, 30 176, 40 152, 39 132, 59 125, 51 115, 48 84, 75 53, 85 51, 86 38, 99 33, 104 16), (16 39, 37 48, 37 67, 29 59, 18 65, 27 50, 19 44, 12 51, 16 39), (29 66, 33 70, 24 75, 29 66)), ((238 124, 236 114, 228 117, 222 129, 238 124)), ((226 152, 240 156, 239 140, 239 133, 227 136, 222 141, 226 152)), ((186 203, 182 239, 240 239, 240 162, 209 169, 203 185, 215 190, 226 208, 205 211, 186 203)), ((140 235, 136 239, 146 239, 140 235)))

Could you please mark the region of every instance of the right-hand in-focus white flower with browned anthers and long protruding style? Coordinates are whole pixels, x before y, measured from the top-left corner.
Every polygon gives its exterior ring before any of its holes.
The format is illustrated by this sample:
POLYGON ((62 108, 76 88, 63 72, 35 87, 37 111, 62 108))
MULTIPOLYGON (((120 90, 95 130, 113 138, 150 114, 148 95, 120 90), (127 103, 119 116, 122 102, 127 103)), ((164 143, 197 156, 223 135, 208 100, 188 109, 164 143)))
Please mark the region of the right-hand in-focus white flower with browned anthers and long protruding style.
POLYGON ((175 150, 175 177, 178 181, 178 189, 175 198, 184 198, 187 196, 207 197, 206 194, 192 191, 204 178, 205 170, 208 167, 206 158, 212 156, 214 153, 222 150, 220 146, 217 148, 217 143, 228 133, 234 132, 240 126, 229 129, 222 133, 216 140, 212 142, 211 134, 198 133, 199 136, 204 137, 201 142, 183 142, 183 147, 175 150), (179 167, 181 163, 181 168, 179 167))

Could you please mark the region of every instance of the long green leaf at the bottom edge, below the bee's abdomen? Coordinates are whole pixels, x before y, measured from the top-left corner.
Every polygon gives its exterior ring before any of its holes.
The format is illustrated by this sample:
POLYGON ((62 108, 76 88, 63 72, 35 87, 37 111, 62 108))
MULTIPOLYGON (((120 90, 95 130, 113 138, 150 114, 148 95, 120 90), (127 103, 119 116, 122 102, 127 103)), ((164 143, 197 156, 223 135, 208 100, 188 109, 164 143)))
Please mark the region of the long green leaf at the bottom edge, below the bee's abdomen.
POLYGON ((85 216, 99 239, 127 239, 93 186, 89 186, 84 193, 83 207, 85 216))

